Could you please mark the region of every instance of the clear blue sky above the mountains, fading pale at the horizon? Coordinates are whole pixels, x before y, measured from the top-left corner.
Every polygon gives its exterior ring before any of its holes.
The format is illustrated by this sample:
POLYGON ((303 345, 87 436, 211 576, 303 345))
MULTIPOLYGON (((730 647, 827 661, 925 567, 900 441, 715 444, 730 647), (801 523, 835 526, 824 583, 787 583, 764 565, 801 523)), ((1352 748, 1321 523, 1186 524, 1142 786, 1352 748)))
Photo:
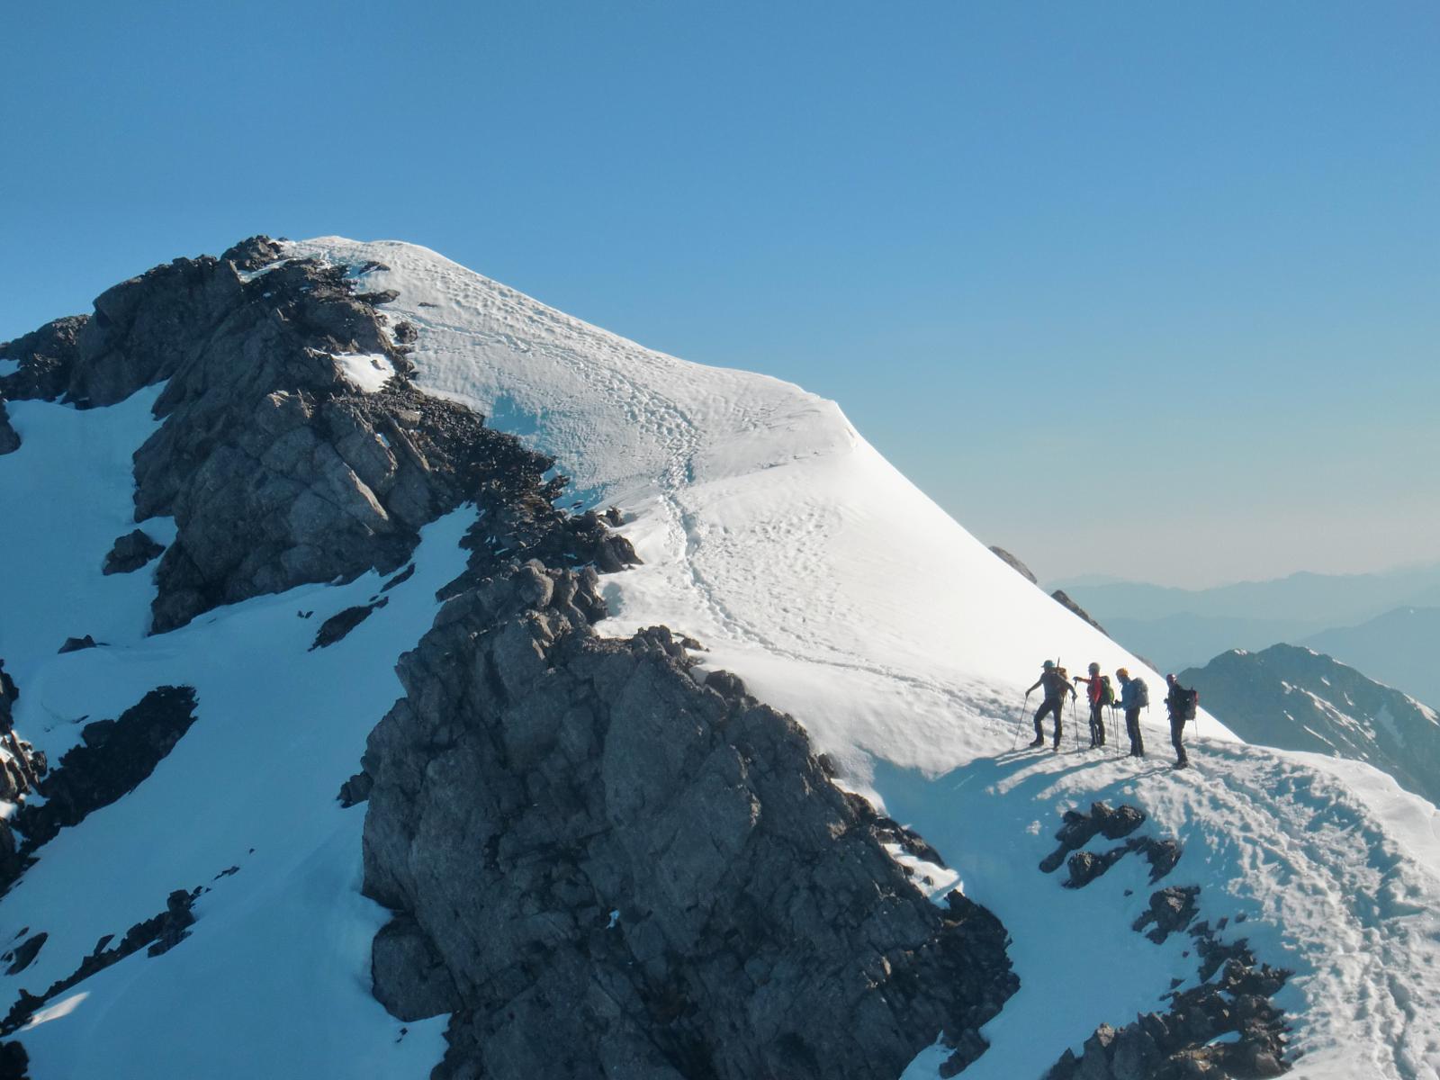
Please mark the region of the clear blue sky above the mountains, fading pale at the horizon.
POLYGON ((1043 577, 1440 557, 1440 6, 10 4, 0 338, 423 243, 837 399, 1043 577))

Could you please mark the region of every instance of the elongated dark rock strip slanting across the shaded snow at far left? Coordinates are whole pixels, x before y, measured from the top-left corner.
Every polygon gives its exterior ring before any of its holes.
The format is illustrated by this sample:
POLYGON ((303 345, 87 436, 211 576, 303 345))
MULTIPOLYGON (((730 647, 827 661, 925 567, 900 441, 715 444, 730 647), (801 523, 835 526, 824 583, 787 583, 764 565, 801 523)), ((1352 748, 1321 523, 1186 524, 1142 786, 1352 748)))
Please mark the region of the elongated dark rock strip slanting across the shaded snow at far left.
POLYGON ((190 687, 160 687, 118 720, 86 724, 85 742, 66 750, 59 766, 40 782, 45 802, 22 806, 16 814, 14 824, 26 837, 20 855, 29 855, 62 828, 134 791, 194 723, 194 708, 190 687))

